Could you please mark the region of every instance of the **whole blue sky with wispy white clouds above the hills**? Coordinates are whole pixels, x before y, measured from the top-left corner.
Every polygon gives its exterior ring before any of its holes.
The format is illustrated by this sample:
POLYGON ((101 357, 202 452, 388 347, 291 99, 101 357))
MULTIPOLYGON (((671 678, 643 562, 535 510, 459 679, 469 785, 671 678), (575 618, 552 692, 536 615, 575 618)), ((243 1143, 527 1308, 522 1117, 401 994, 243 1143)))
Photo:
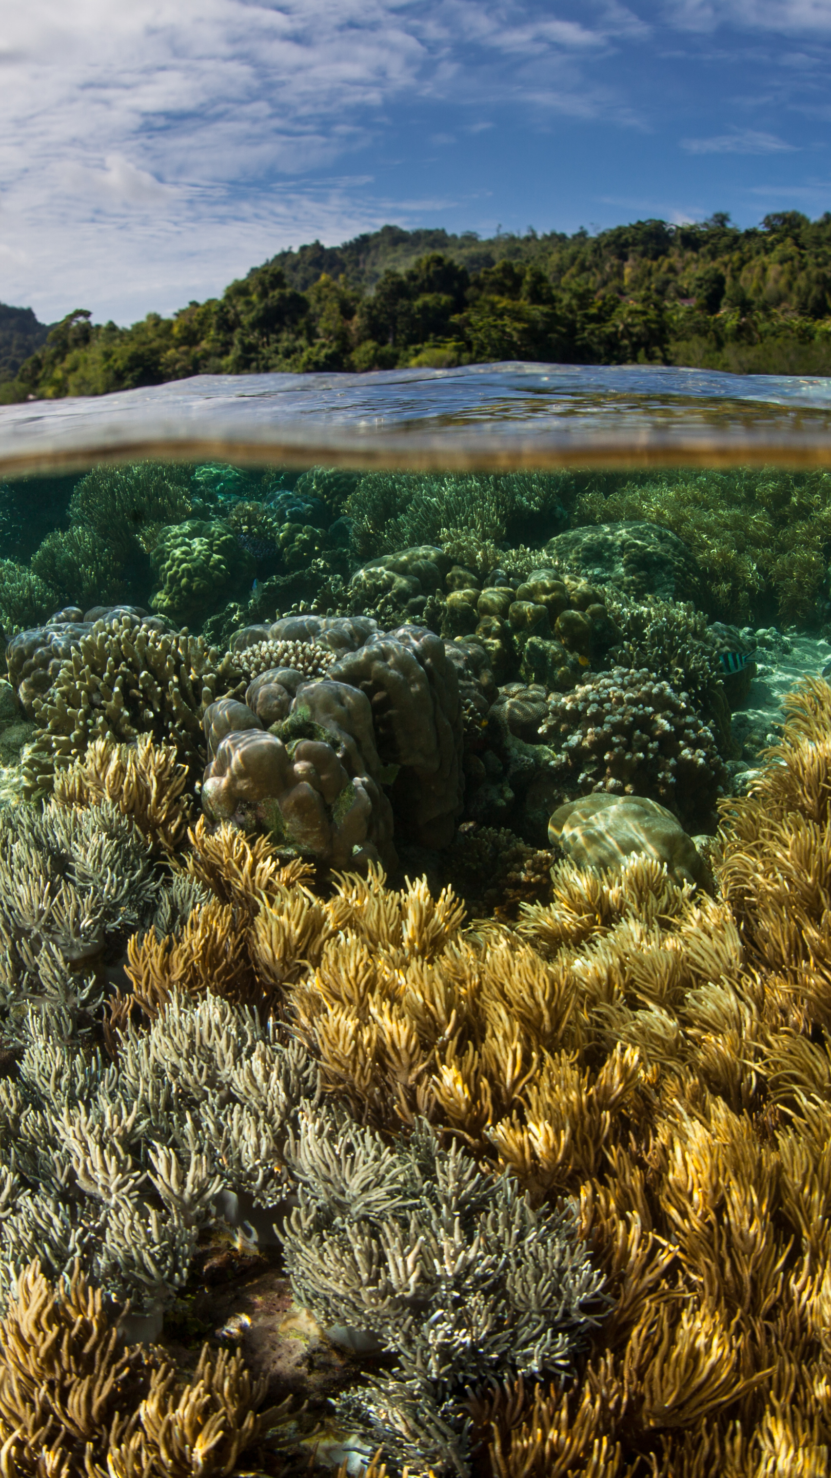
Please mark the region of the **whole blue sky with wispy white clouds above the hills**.
POLYGON ((831 210, 831 0, 28 0, 0 302, 129 324, 384 222, 831 210))

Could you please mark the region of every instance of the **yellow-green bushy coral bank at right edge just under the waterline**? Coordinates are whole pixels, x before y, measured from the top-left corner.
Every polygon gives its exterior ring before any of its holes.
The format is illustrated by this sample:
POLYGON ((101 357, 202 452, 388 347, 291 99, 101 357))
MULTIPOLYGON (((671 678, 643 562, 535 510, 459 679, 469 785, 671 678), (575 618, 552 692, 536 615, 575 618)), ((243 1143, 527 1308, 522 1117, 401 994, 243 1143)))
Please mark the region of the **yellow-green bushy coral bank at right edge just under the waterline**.
POLYGON ((643 473, 609 495, 597 489, 578 500, 575 523, 628 519, 685 539, 707 571, 722 621, 816 622, 831 548, 831 473, 643 473))

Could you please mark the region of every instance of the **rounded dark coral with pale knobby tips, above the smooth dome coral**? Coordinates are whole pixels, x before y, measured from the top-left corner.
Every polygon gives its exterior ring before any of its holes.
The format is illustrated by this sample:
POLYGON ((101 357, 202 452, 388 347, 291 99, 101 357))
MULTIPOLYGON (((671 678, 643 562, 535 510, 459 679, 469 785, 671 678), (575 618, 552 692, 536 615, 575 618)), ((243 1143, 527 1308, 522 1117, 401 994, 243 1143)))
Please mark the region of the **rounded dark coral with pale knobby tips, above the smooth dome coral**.
POLYGON ((563 786, 583 795, 648 795, 705 825, 726 782, 711 729, 668 683, 615 667, 549 701, 543 740, 563 786))

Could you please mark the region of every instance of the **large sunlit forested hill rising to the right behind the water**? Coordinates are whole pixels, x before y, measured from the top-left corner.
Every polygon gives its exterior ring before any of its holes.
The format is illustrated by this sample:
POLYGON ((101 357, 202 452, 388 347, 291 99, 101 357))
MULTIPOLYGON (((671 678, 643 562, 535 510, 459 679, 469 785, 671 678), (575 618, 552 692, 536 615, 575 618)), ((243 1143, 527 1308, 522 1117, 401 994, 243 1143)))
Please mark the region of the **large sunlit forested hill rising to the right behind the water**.
POLYGON ((596 236, 384 226, 342 247, 312 242, 172 318, 118 328, 69 313, 0 384, 0 401, 206 372, 497 359, 828 374, 831 213, 766 216, 750 231, 716 214, 596 236))

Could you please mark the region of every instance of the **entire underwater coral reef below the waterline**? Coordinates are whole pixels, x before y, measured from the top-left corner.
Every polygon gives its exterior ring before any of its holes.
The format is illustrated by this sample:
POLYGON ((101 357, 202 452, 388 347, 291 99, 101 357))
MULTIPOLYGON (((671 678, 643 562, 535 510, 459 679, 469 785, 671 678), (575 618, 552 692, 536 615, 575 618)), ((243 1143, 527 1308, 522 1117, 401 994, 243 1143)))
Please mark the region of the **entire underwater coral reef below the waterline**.
POLYGON ((0 1472, 825 1474, 831 686, 738 758, 692 538, 393 483, 89 474, 102 587, 9 562, 0 1472))

